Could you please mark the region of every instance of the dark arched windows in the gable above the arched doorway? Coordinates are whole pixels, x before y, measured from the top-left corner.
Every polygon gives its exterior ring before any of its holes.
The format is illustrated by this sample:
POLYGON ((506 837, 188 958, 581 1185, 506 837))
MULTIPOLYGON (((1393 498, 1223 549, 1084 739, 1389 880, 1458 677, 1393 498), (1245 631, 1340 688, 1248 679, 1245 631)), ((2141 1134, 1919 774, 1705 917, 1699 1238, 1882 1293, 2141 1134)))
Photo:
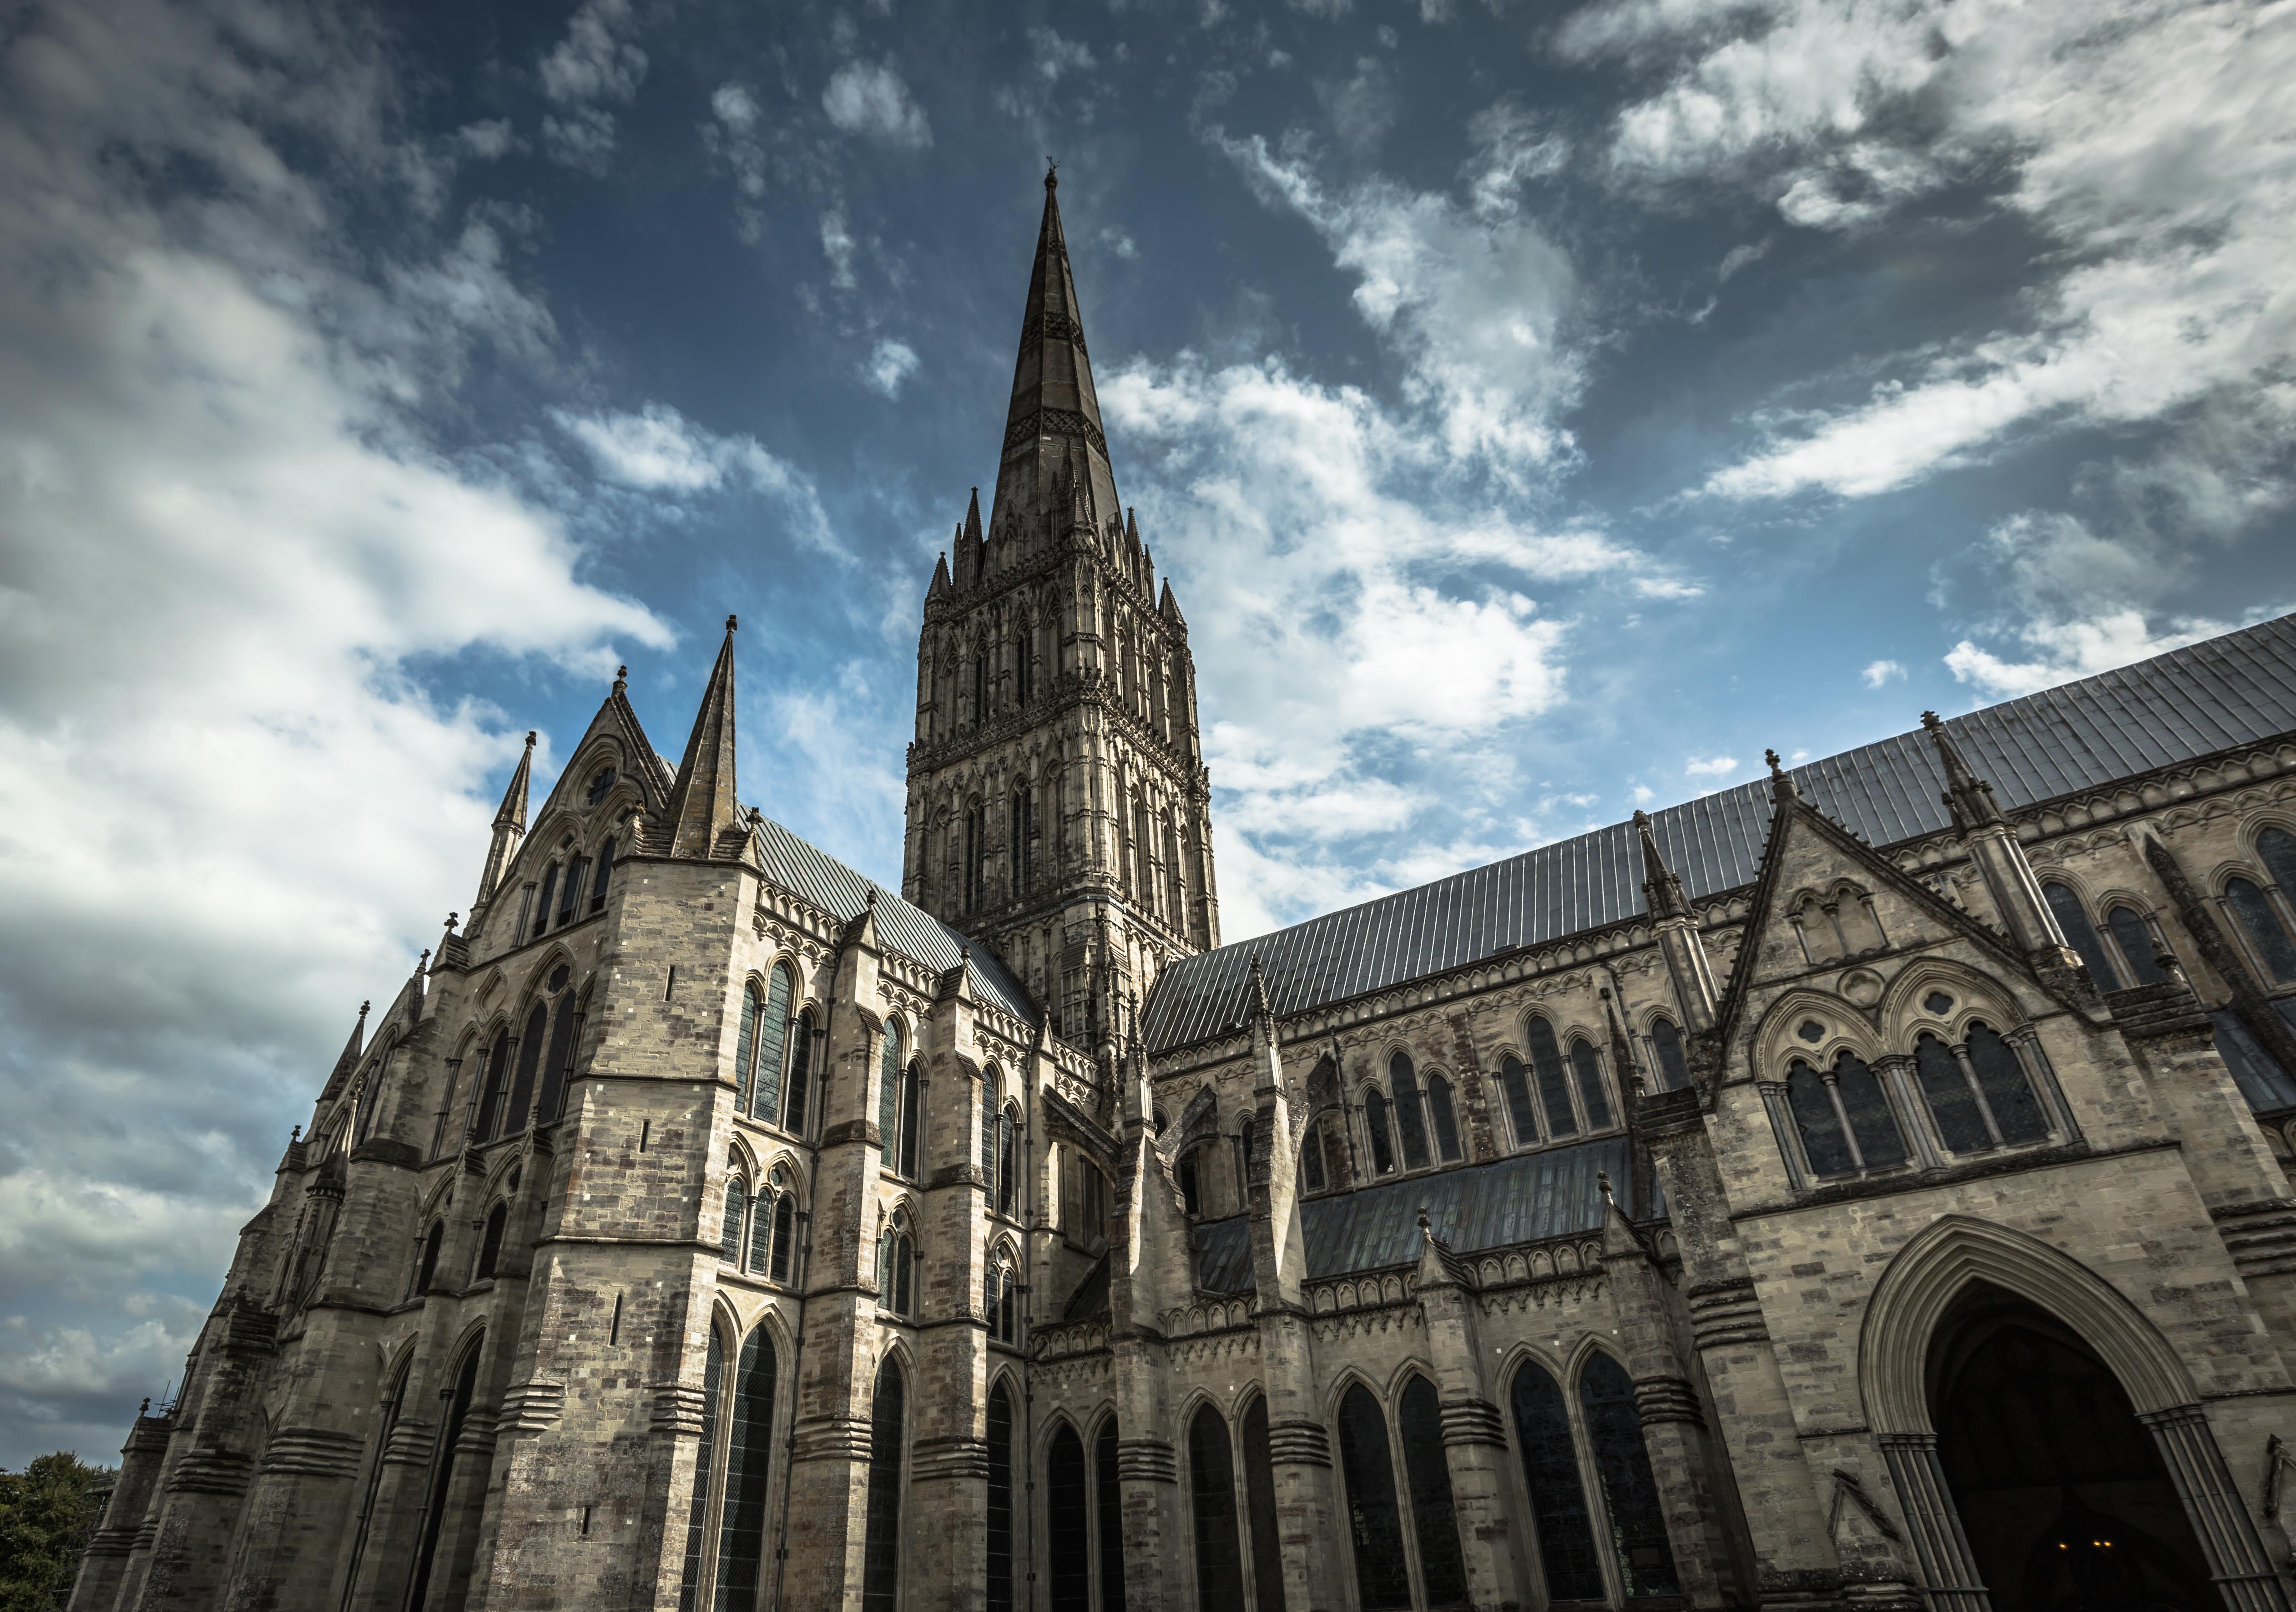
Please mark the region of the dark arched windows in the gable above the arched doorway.
MULTIPOLYGON (((1931 992, 1931 1010, 1952 1010, 1952 997, 1931 992)), ((1825 1026, 1809 1020, 1807 1040, 1825 1026)), ((1883 1059, 1876 1072, 1855 1052, 1830 1063, 1791 1059, 1784 1100, 1800 1144, 1798 1164, 1816 1180, 1899 1169, 1924 1144, 1942 1157, 1972 1157, 1998 1148, 2048 1141, 2057 1127, 2046 1072, 2030 1065, 2030 1038, 2009 1038, 1970 1022, 1963 1040, 1947 1045, 1922 1031, 1913 1056, 1883 1059), (1919 1127, 1919 1130, 1917 1130, 1919 1127)), ((1793 1162, 1793 1160, 1789 1160, 1793 1162)))

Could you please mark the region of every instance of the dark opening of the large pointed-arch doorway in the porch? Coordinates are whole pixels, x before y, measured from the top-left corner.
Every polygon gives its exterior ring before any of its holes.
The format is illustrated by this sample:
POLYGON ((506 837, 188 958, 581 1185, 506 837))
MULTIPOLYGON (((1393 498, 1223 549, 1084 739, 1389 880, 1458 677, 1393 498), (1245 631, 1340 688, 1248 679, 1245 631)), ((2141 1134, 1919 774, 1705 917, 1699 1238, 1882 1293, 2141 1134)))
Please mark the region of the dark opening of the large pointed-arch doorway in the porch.
POLYGON ((1993 1612, 2220 1605, 2154 1435, 2055 1316, 1968 1284, 1931 1343, 1929 1403, 1993 1612))

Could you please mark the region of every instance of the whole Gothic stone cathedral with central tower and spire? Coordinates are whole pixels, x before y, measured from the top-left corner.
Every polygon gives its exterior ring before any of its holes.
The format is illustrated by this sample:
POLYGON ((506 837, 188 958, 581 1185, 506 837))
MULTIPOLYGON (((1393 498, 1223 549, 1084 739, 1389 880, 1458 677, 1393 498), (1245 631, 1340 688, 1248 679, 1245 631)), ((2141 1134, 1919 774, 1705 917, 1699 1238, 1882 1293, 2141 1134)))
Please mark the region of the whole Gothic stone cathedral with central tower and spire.
POLYGON ((1221 946, 1045 188, 900 889, 528 735, 71 1605, 2289 1612, 2296 618, 1221 946))

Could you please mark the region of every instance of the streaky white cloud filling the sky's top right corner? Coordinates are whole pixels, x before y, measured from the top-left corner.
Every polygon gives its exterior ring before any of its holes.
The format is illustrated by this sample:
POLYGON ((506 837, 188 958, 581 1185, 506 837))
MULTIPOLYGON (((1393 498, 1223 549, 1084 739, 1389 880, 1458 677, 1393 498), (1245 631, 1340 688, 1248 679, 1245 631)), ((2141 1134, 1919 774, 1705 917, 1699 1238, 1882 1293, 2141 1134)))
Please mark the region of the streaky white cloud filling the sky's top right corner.
POLYGON ((1846 406, 1777 413, 1706 491, 1871 496, 2020 432, 2255 400, 2296 361, 2296 11, 2156 0, 1619 0, 1559 34, 1667 62, 1612 131, 1621 184, 1740 184, 1869 225, 2007 175, 2057 250, 2020 324, 1899 354, 1846 406))

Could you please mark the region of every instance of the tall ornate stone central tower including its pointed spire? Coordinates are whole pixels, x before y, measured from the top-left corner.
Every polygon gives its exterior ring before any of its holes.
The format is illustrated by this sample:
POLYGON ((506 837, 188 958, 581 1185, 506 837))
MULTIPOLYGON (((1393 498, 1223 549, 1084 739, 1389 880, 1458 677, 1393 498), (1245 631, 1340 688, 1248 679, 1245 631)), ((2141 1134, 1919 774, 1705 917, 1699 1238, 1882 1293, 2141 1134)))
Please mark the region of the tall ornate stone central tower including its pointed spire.
POLYGON ((1171 958, 1219 944, 1210 799, 1187 620, 1116 498, 1047 172, 990 517, 974 489, 925 592, 902 893, 1102 1052, 1171 958))

